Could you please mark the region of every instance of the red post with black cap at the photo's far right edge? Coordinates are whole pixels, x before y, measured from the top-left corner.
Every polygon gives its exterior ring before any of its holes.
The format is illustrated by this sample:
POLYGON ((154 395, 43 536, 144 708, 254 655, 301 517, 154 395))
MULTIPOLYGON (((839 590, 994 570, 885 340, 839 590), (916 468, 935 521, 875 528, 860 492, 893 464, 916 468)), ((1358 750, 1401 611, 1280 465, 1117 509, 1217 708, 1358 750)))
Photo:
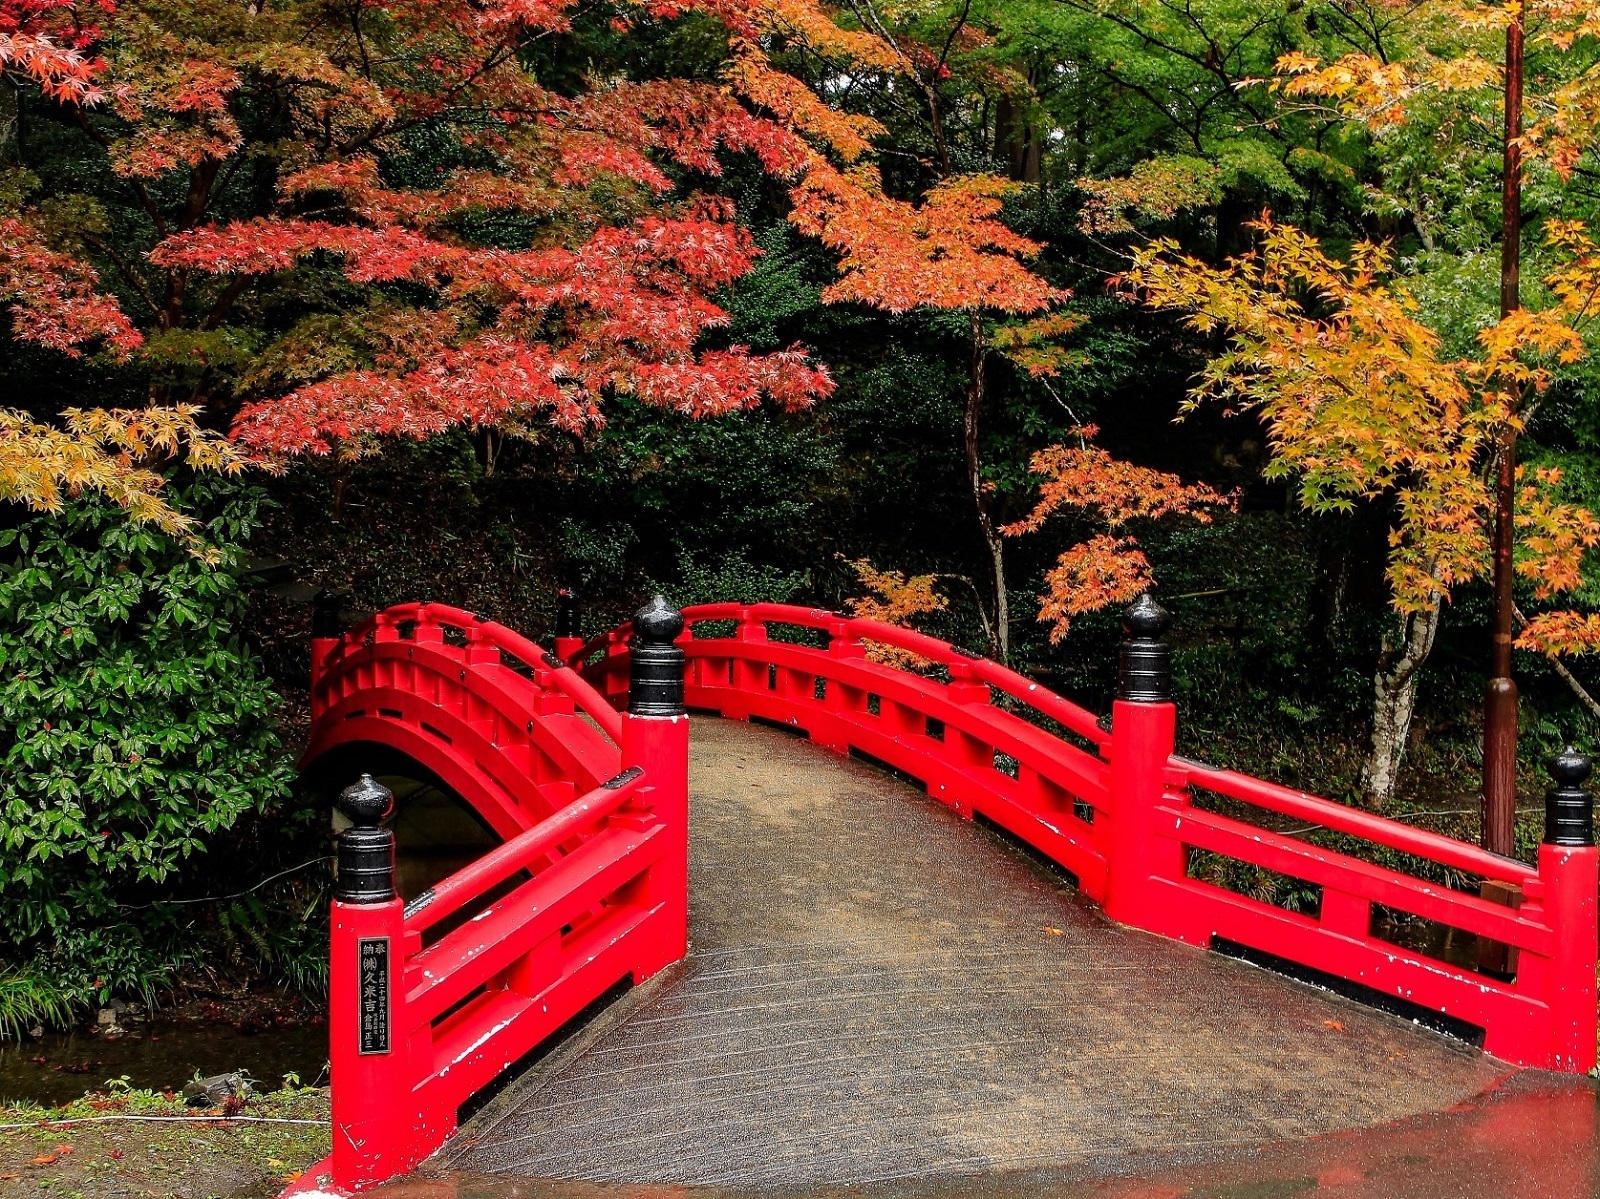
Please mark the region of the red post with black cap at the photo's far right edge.
POLYGON ((1595 799, 1584 788, 1589 759, 1568 749, 1550 760, 1555 786, 1544 792, 1539 879, 1550 932, 1546 1002, 1550 1010, 1550 1069, 1587 1074, 1595 1066, 1595 959, 1600 957, 1600 853, 1595 799))

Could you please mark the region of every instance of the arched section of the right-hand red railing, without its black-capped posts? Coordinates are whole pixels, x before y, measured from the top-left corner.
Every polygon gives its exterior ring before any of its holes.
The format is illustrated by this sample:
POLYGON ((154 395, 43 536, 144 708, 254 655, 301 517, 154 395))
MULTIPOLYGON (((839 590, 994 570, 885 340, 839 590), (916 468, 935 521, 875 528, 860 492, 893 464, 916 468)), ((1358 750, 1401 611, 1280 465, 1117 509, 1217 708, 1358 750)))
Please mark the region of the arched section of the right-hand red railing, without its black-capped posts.
MULTIPOLYGON (((1035 845, 1104 901, 1109 765, 1050 732, 1106 746, 1110 733, 1091 712, 998 663, 877 621, 787 604, 704 604, 683 616, 691 709, 800 728, 883 762, 963 816, 1035 845), (707 631, 718 624, 728 631, 707 631), (795 640, 808 632, 826 645, 795 640), (874 660, 874 647, 918 669, 874 660), (997 706, 997 692, 1018 711, 997 706)), ((626 695, 629 636, 622 626, 568 656, 613 703, 626 695)))

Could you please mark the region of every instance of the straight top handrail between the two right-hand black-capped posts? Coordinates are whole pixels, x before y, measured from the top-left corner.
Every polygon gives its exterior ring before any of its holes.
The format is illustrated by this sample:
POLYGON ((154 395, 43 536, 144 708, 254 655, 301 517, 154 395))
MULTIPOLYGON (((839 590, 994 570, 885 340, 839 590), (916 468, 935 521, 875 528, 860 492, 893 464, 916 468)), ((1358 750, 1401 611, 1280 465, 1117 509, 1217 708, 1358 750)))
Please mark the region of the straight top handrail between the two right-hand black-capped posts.
POLYGON ((1490 853, 1464 840, 1418 829, 1397 820, 1387 820, 1346 804, 1336 804, 1331 799, 1294 791, 1278 783, 1267 783, 1251 775, 1242 775, 1237 770, 1222 770, 1178 754, 1170 762, 1182 772, 1190 788, 1213 791, 1227 799, 1266 808, 1282 816, 1306 820, 1333 832, 1346 832, 1374 845, 1426 858, 1467 874, 1517 884, 1523 888, 1536 888, 1539 885, 1539 872, 1531 866, 1515 858, 1502 858, 1499 853, 1490 853))

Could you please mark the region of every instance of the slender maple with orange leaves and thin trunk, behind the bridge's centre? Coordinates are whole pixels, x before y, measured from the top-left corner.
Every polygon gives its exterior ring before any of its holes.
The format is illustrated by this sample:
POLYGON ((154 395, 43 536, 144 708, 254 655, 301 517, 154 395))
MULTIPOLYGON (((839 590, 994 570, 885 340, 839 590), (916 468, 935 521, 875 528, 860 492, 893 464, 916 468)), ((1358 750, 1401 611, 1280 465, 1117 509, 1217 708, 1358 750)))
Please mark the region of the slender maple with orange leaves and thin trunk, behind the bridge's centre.
MULTIPOLYGON (((1048 379, 1080 360, 1064 341, 1080 328, 1082 317, 1064 307, 1070 293, 1038 272, 1035 261, 1043 245, 1018 234, 1005 221, 1006 200, 1022 192, 1024 184, 997 174, 963 174, 952 166, 942 131, 949 101, 941 93, 942 82, 950 77, 949 56, 957 46, 982 51, 987 40, 965 24, 965 13, 947 30, 941 46, 893 24, 886 6, 861 5, 856 11, 864 32, 848 51, 821 42, 808 48, 824 59, 829 54, 854 56, 856 62, 875 66, 923 98, 936 154, 933 162, 923 165, 933 171, 934 182, 918 197, 890 195, 880 174, 854 152, 858 146, 851 142, 846 166, 814 162, 808 168, 792 190, 790 219, 838 255, 838 280, 824 290, 824 301, 866 304, 886 312, 931 307, 965 317, 968 371, 962 456, 992 571, 989 604, 979 599, 979 620, 990 631, 995 655, 1006 660, 1011 618, 1005 535, 1037 530, 1050 511, 1069 504, 1058 467, 1072 461, 1077 472, 1093 475, 1102 485, 1102 496, 1114 487, 1114 477, 1136 488, 1181 490, 1182 485, 1160 472, 1141 474, 1104 451, 1077 459, 1077 450, 1053 447, 1035 459, 1046 487, 1046 499, 1035 519, 1002 528, 995 515, 994 483, 986 477, 981 458, 989 360, 998 354, 1027 376, 1048 379)), ((810 30, 803 37, 808 35, 810 30)), ((1194 493, 1184 511, 1197 511, 1205 503, 1202 491, 1194 493)), ((1134 509, 1120 512, 1096 501, 1085 501, 1082 507, 1098 511, 1109 527, 1118 528, 1136 515, 1134 509)), ((1096 538, 1074 546, 1046 581, 1040 618, 1053 624, 1059 637, 1069 613, 1128 597, 1136 583, 1149 584, 1149 563, 1131 539, 1096 538)))

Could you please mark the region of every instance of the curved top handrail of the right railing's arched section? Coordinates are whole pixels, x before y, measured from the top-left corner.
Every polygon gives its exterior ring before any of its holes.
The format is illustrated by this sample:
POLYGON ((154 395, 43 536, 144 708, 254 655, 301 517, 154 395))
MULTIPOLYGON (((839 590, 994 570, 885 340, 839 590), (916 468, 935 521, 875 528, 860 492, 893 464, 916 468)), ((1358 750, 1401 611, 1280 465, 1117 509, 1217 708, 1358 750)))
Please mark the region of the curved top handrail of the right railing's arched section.
MULTIPOLYGON (((1019 704, 1032 708, 1040 716, 1056 720, 1070 728, 1078 736, 1096 748, 1110 741, 1110 733, 1101 727, 1099 717, 1085 708, 1066 700, 1048 687, 1043 687, 1027 676, 1018 674, 1008 666, 984 658, 971 650, 963 650, 950 642, 930 637, 914 629, 902 629, 894 624, 867 620, 866 616, 846 616, 827 608, 803 608, 795 604, 693 604, 683 610, 685 637, 694 637, 694 626, 707 621, 749 621, 757 624, 794 624, 816 629, 819 632, 837 634, 850 640, 875 642, 890 648, 914 653, 934 666, 944 666, 963 679, 994 687, 997 692, 1011 696, 1019 704)), ((624 640, 630 632, 629 624, 621 624, 610 632, 600 634, 584 642, 582 648, 573 653, 568 661, 576 666, 595 652, 624 640)), ((893 668, 888 668, 893 669, 893 668)), ((910 674, 907 671, 906 674, 910 674)))

